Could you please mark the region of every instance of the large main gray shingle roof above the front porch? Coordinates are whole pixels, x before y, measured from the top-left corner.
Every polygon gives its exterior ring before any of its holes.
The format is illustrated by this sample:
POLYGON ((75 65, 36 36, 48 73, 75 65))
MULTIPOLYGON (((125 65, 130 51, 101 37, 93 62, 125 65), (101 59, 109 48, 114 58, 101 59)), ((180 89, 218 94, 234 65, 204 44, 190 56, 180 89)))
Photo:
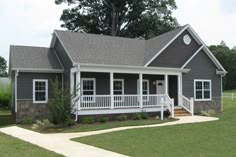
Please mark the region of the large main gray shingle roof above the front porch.
POLYGON ((183 27, 141 40, 55 30, 75 63, 144 66, 183 27))

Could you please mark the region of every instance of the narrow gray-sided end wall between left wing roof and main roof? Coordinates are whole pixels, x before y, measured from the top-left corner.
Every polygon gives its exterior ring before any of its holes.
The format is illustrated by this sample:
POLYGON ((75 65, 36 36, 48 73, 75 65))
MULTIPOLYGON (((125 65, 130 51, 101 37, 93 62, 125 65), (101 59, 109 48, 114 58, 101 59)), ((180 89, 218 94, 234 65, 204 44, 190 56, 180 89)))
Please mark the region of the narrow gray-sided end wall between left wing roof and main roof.
POLYGON ((65 85, 70 85, 70 68, 73 66, 71 59, 69 58, 68 54, 66 53, 65 49, 63 48, 61 42, 56 39, 54 49, 57 53, 58 58, 61 61, 61 64, 64 67, 64 82, 65 85))

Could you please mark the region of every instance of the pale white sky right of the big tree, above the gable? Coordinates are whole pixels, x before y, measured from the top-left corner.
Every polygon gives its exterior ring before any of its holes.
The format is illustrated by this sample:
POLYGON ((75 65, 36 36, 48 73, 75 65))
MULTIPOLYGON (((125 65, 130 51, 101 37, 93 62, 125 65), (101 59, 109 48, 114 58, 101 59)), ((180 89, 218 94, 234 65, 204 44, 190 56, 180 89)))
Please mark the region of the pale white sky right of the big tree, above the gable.
POLYGON ((176 3, 174 16, 181 25, 189 23, 207 45, 219 44, 221 40, 230 47, 236 45, 236 13, 226 14, 228 6, 222 5, 223 0, 176 0, 176 3))

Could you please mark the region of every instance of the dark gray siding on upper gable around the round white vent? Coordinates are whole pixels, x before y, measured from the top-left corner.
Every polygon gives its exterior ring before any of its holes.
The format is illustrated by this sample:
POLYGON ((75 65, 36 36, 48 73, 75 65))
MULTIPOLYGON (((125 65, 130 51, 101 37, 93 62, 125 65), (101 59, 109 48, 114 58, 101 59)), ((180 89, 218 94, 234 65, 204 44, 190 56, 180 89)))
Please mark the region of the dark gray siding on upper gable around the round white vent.
MULTIPOLYGON (((149 66, 180 68, 197 51, 200 45, 188 31, 184 31, 170 44, 149 66), (188 34, 192 39, 189 45, 183 42, 183 37, 188 34)), ((156 52, 157 53, 157 52, 156 52)))

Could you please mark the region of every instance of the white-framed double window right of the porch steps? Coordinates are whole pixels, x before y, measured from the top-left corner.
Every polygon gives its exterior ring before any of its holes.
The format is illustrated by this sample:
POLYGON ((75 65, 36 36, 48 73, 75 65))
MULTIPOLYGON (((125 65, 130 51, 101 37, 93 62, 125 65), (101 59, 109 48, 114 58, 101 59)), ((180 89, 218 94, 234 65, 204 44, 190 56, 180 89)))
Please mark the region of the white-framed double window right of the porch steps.
POLYGON ((195 100, 211 100, 211 80, 194 80, 195 100))

